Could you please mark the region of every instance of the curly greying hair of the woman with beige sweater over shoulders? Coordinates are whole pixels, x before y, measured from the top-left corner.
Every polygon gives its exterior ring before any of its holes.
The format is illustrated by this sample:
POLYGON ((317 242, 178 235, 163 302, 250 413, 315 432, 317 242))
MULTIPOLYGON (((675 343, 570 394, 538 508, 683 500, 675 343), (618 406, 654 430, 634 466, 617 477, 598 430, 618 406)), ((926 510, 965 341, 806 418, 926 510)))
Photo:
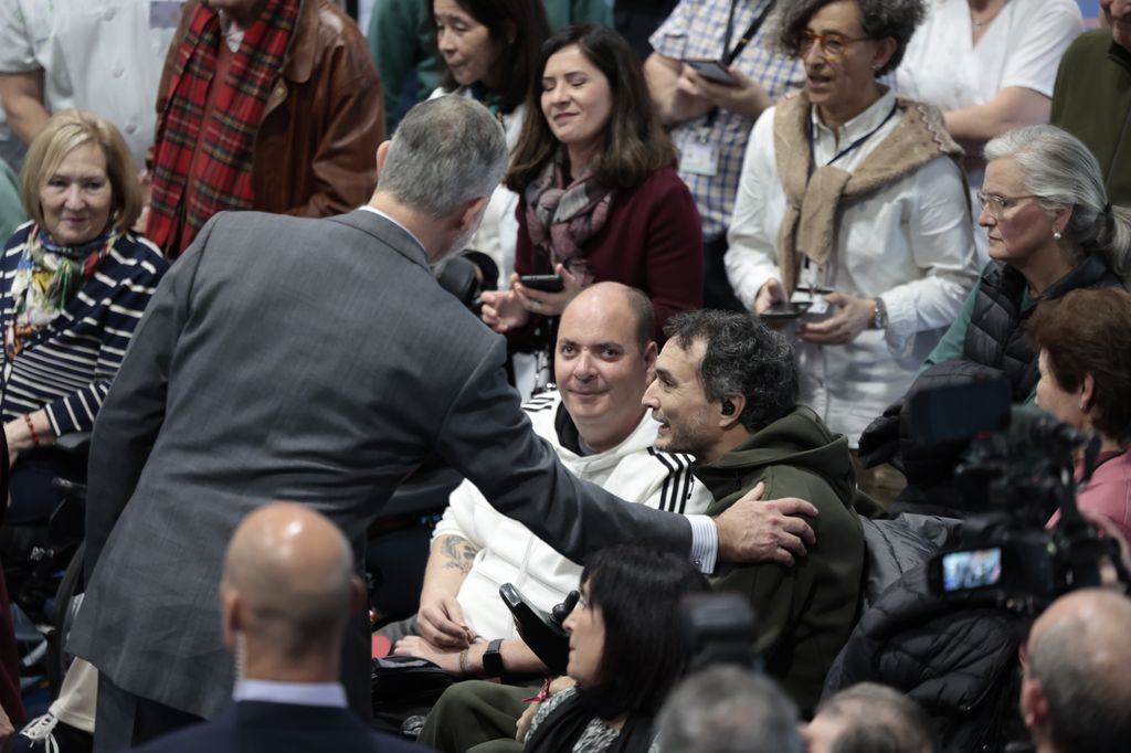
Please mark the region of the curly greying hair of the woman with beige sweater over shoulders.
MULTIPOLYGON (((818 10, 837 0, 789 0, 778 3, 777 46, 788 55, 801 57, 801 41, 805 27, 818 10)), ((926 17, 923 0, 856 0, 860 25, 870 40, 896 41, 896 51, 886 66, 875 71, 877 78, 899 67, 915 29, 926 17)))

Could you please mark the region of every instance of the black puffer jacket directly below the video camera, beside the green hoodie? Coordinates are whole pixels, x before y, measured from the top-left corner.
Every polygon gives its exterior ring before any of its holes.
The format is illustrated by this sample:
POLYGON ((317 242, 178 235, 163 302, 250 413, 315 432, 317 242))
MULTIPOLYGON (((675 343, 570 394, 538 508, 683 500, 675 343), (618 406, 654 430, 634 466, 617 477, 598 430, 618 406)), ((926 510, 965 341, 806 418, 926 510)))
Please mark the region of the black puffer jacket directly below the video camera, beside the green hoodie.
POLYGON ((1019 727, 1021 628, 1016 616, 976 599, 933 596, 921 565, 861 617, 829 670, 824 696, 882 683, 926 710, 947 751, 999 751, 1019 727))

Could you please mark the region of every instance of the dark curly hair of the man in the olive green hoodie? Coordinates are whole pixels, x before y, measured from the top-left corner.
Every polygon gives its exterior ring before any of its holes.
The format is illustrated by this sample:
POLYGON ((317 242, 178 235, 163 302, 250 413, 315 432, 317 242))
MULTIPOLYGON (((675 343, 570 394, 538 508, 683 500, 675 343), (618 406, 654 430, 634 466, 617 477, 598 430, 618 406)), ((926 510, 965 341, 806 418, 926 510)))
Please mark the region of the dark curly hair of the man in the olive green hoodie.
POLYGON ((711 403, 742 395, 740 419, 746 431, 782 418, 797 406, 797 367, 793 347, 749 313, 685 311, 667 320, 664 334, 684 350, 702 341, 699 383, 711 403))

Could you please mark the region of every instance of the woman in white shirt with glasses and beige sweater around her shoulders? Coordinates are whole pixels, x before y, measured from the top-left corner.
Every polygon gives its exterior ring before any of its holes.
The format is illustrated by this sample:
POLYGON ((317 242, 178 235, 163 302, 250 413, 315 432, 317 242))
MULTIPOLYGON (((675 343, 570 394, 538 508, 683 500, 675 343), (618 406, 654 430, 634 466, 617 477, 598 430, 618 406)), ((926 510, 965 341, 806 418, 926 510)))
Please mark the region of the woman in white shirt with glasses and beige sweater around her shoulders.
MULTIPOLYGON (((977 271, 969 199, 933 106, 879 83, 922 0, 783 3, 779 45, 804 89, 766 111, 746 148, 726 254, 739 300, 800 340, 802 401, 856 447, 910 386, 977 271), (811 305, 796 318, 789 302, 811 305)), ((893 470, 860 474, 890 499, 893 470)))

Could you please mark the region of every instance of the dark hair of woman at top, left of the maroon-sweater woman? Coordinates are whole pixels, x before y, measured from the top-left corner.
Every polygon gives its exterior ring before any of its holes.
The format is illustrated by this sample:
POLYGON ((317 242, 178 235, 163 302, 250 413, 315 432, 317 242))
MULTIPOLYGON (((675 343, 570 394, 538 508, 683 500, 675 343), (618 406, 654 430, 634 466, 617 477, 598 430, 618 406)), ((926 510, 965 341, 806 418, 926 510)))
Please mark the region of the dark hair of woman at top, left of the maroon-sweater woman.
MULTIPOLYGON (((472 18, 487 27, 491 41, 502 47, 495 64, 503 73, 499 106, 504 113, 515 111, 526 96, 527 85, 541 72, 536 67, 538 46, 550 36, 550 21, 541 2, 533 0, 456 0, 472 18), (510 27, 510 28, 508 28, 510 27), (508 34, 510 32, 510 34, 508 34), (510 41, 513 40, 513 41, 510 41)), ((429 2, 432 33, 435 34, 435 6, 429 2)), ((439 44, 439 38, 433 40, 439 44)), ((443 62, 442 55, 440 57, 443 62)), ((455 92, 459 83, 444 68, 440 88, 455 92)))

